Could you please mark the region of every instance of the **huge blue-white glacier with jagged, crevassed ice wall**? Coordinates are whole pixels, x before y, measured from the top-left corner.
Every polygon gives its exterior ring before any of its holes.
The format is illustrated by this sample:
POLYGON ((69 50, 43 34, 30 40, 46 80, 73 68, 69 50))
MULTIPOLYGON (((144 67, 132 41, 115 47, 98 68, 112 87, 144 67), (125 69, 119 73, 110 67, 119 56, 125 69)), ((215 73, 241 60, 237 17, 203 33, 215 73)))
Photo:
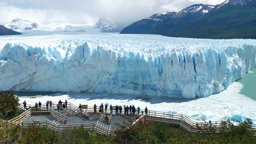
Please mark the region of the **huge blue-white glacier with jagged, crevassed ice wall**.
POLYGON ((202 98, 256 67, 256 40, 129 34, 0 37, 0 89, 202 98))

